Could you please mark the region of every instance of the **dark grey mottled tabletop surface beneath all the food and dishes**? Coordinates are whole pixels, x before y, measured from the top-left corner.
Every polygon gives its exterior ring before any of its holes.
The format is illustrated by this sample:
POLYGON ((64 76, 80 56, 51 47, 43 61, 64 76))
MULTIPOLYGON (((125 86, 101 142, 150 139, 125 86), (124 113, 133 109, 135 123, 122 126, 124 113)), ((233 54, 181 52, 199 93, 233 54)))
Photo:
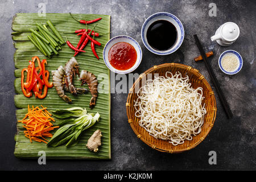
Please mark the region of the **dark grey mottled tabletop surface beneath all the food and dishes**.
MULTIPOLYGON (((256 169, 255 138, 255 1, 214 1, 217 16, 208 15, 213 1, 1 1, 0 29, 0 169, 7 170, 191 170, 191 169, 256 169), (11 21, 16 13, 36 13, 39 3, 46 4, 47 13, 84 13, 111 15, 111 37, 129 35, 142 47, 143 60, 136 69, 142 73, 154 65, 174 61, 180 63, 177 53, 158 56, 149 52, 141 40, 141 26, 153 13, 166 11, 176 15, 183 23, 185 39, 180 47, 184 63, 199 71, 210 82, 204 63, 195 63, 199 55, 193 34, 197 34, 205 50, 213 50, 209 61, 233 112, 227 119, 217 101, 217 117, 213 129, 205 140, 191 151, 182 154, 164 154, 152 150, 137 139, 127 123, 125 103, 127 94, 112 94, 112 159, 111 160, 37 160, 16 159, 14 134, 16 132, 14 106, 14 47, 11 39, 11 21), (240 37, 229 47, 220 47, 210 36, 225 22, 240 27, 240 37), (218 57, 234 49, 243 57, 243 68, 237 75, 228 76, 218 67, 218 57), (209 151, 216 151, 217 164, 208 163, 209 151)), ((135 73, 134 72, 134 73, 135 73)), ((118 81, 115 81, 116 83, 118 81)), ((128 85, 128 84, 127 84, 128 85)), ((128 87, 128 86, 127 86, 128 87)), ((127 88, 128 90, 128 88, 127 88)), ((215 91, 215 89, 213 88, 215 91)))

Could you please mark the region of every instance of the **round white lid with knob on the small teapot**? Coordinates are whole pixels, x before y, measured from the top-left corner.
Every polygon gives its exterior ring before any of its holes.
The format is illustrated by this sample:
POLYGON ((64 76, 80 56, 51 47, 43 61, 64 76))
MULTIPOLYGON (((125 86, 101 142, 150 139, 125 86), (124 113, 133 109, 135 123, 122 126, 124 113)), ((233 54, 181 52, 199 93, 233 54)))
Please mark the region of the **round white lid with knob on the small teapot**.
POLYGON ((227 41, 234 41, 238 38, 240 34, 240 29, 236 23, 226 22, 221 28, 222 36, 227 41))

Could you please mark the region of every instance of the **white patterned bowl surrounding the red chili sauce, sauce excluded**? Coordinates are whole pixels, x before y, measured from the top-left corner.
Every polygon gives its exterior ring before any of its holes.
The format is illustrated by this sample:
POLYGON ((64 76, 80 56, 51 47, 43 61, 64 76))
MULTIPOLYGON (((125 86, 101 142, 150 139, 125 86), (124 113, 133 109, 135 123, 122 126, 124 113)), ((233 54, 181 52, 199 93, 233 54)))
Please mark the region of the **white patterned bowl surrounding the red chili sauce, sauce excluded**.
POLYGON ((104 59, 106 66, 112 72, 119 73, 119 74, 126 74, 126 73, 133 72, 139 66, 139 64, 141 64, 141 60, 142 60, 141 46, 139 46, 138 42, 136 40, 134 40, 133 38, 131 38, 130 36, 126 36, 126 35, 115 36, 114 38, 110 39, 108 43, 106 43, 106 46, 103 49, 103 59, 104 59), (126 42, 126 43, 131 44, 131 46, 133 46, 137 52, 137 60, 136 60, 135 64, 133 65, 133 67, 131 67, 130 69, 118 70, 118 69, 115 69, 109 63, 109 50, 110 50, 110 48, 112 48, 112 46, 114 46, 114 44, 119 43, 119 42, 126 42))

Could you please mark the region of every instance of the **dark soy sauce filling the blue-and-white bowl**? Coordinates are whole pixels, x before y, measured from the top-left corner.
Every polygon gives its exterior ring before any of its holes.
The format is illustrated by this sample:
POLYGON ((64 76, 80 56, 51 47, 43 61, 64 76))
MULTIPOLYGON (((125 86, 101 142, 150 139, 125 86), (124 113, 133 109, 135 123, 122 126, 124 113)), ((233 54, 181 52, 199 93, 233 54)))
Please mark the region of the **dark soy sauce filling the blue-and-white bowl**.
POLYGON ((177 40, 177 30, 174 24, 167 20, 157 20, 147 30, 147 42, 158 51, 167 51, 177 40))

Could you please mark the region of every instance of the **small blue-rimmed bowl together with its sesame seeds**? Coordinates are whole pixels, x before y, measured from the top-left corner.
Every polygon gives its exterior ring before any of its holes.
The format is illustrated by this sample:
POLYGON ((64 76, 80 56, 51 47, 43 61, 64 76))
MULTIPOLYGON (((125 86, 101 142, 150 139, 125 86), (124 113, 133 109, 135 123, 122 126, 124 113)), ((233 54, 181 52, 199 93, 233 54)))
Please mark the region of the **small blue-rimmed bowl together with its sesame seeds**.
POLYGON ((222 72, 228 75, 234 75, 238 73, 243 66, 242 56, 237 51, 224 51, 218 58, 218 66, 222 72))

